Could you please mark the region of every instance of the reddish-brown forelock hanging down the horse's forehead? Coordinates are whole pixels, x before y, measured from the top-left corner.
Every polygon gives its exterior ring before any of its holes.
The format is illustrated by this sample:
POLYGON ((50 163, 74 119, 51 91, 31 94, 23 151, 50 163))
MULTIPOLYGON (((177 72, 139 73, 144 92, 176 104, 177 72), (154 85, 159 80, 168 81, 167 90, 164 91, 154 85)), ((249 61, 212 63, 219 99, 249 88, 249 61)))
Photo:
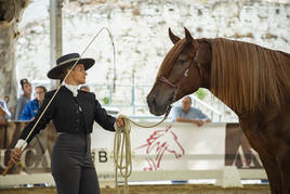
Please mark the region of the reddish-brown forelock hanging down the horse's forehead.
POLYGON ((158 70, 157 76, 156 76, 156 80, 158 80, 161 76, 166 76, 167 74, 169 74, 171 72, 171 69, 174 65, 173 62, 176 61, 180 53, 184 49, 185 41, 186 41, 185 39, 181 39, 167 53, 161 66, 159 67, 159 70, 158 70))

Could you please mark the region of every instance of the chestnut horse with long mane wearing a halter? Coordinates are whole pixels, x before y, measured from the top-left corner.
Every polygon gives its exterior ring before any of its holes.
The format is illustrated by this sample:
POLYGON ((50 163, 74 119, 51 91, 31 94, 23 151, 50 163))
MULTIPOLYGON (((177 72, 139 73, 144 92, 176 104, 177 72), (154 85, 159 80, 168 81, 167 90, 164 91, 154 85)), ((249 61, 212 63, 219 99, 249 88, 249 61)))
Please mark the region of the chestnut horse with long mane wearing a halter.
POLYGON ((147 96, 160 116, 184 95, 209 89, 239 117, 266 170, 272 194, 290 193, 290 54, 223 38, 181 39, 169 29, 173 48, 147 96))

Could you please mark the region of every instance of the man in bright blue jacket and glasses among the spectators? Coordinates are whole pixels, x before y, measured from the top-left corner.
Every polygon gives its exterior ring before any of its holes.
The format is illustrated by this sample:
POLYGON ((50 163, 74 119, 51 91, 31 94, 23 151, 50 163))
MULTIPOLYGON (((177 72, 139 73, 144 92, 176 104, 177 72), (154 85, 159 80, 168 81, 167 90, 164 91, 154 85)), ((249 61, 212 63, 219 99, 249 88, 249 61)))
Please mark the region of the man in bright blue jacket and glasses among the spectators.
POLYGON ((43 103, 47 89, 43 86, 36 87, 36 99, 24 107, 19 120, 32 120, 43 103))

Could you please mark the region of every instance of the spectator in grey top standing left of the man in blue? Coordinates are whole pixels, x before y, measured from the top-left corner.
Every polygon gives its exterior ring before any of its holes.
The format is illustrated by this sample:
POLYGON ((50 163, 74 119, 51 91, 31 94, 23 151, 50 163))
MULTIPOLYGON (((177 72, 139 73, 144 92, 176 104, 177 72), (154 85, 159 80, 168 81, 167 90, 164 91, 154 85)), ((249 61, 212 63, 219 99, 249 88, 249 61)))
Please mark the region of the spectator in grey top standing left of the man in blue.
POLYGON ((31 85, 27 79, 22 79, 21 85, 22 85, 23 94, 17 100, 15 120, 21 119, 22 112, 23 112, 25 105, 30 101, 31 92, 32 92, 31 85))

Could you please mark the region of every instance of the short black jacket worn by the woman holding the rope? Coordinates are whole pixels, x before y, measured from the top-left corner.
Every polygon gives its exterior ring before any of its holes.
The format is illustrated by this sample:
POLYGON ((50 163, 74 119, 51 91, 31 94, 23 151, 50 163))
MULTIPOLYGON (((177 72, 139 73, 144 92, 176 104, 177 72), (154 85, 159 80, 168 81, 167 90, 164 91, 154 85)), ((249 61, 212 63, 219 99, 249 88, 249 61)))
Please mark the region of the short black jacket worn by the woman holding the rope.
MULTIPOLYGON (((55 90, 45 94, 43 104, 36 118, 24 128, 19 139, 25 140, 27 138, 54 92, 55 90)), ((27 139, 27 142, 29 143, 36 133, 44 129, 50 120, 53 120, 57 132, 68 133, 90 133, 92 132, 94 120, 104 129, 115 131, 114 124, 116 121, 114 117, 102 108, 94 93, 79 90, 77 98, 75 98, 72 92, 64 86, 61 87, 35 130, 27 139)))

